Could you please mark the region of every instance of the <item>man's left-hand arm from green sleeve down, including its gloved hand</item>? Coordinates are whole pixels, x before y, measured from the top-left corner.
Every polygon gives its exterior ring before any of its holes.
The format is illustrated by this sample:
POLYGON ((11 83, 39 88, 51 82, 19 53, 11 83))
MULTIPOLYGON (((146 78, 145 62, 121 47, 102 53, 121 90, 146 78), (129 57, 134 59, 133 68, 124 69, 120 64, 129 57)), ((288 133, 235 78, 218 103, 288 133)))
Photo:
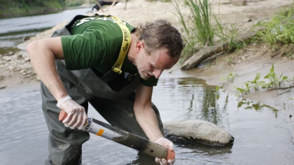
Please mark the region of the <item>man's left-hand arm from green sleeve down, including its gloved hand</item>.
POLYGON ((68 114, 62 123, 72 129, 81 129, 87 121, 85 108, 70 97, 66 97, 68 94, 55 67, 55 59, 64 59, 61 38, 55 37, 32 42, 27 46, 27 52, 36 73, 58 101, 56 106, 68 114))

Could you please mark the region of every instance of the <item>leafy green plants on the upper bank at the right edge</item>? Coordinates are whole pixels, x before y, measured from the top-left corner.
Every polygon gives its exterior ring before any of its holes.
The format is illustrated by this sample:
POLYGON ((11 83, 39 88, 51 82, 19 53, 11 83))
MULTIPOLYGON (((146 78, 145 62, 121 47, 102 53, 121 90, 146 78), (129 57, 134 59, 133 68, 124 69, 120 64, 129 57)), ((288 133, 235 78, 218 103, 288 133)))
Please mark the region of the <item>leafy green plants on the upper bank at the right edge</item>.
POLYGON ((257 32, 256 39, 273 44, 281 42, 283 44, 294 43, 294 6, 285 9, 278 15, 272 17, 269 22, 260 22, 257 26, 265 28, 257 32))

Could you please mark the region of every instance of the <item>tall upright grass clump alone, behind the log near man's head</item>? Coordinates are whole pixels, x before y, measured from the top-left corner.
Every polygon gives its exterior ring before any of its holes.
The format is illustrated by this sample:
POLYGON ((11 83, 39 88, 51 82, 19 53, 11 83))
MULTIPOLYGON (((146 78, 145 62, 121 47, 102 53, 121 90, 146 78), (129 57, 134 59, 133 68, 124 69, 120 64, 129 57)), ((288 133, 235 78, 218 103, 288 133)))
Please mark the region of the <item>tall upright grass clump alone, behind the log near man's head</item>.
POLYGON ((186 47, 183 50, 182 59, 187 55, 194 54, 196 46, 198 48, 201 46, 213 46, 215 35, 222 40, 227 38, 224 35, 219 17, 213 12, 211 4, 207 0, 185 0, 185 5, 190 10, 189 15, 183 15, 177 1, 175 0, 174 2, 177 11, 176 16, 187 34, 183 35, 186 47), (212 25, 212 21, 216 23, 216 26, 212 25))

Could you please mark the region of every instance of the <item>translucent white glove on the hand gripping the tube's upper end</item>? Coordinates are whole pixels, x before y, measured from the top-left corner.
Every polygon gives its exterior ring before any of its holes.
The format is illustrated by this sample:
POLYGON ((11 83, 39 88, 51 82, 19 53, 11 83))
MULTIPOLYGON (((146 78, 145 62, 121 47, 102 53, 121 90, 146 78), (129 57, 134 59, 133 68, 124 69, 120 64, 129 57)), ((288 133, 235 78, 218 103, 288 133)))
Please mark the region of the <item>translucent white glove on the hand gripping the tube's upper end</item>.
POLYGON ((65 127, 83 128, 88 119, 84 107, 73 101, 70 96, 59 99, 56 106, 67 113, 67 117, 62 121, 65 127))

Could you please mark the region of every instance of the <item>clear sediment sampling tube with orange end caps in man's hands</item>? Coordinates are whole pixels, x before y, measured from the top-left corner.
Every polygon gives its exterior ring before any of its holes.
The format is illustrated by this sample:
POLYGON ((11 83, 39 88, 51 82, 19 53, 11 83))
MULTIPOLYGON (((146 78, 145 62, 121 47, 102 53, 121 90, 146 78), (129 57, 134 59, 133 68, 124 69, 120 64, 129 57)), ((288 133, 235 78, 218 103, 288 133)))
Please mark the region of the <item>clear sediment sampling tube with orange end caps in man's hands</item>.
MULTIPOLYGON (((58 119, 63 121, 66 116, 66 112, 61 110, 58 119)), ((154 143, 130 132, 121 130, 109 124, 103 123, 91 117, 88 117, 88 121, 83 127, 83 130, 144 152, 150 156, 165 158, 166 160, 173 160, 175 157, 174 151, 171 151, 162 145, 154 143)))

